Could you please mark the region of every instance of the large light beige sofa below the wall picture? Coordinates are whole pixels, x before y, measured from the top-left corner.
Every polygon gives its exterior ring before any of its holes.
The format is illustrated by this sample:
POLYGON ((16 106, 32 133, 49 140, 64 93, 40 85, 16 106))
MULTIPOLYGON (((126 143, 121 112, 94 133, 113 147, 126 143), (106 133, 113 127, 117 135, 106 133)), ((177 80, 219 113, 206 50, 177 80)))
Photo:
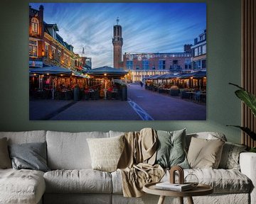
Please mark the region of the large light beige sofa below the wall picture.
MULTIPOLYGON (((113 131, 0 132, 0 138, 7 137, 9 145, 46 141, 48 167, 51 169, 46 173, 28 169, 0 169, 0 203, 157 203, 159 197, 148 194, 142 198, 124 198, 119 171, 108 173, 91 169, 86 139, 122 134, 113 131)), ((207 138, 208 132, 193 135, 207 138)), ((190 137, 187 135, 188 143, 190 137)), ((210 196, 194 197, 194 203, 256 203, 256 154, 241 153, 240 169, 185 169, 185 175, 196 174, 201 183, 214 188, 210 196)), ((169 172, 166 171, 162 181, 168 179, 169 172)), ((176 198, 166 199, 166 203, 171 201, 178 202, 176 198)))

